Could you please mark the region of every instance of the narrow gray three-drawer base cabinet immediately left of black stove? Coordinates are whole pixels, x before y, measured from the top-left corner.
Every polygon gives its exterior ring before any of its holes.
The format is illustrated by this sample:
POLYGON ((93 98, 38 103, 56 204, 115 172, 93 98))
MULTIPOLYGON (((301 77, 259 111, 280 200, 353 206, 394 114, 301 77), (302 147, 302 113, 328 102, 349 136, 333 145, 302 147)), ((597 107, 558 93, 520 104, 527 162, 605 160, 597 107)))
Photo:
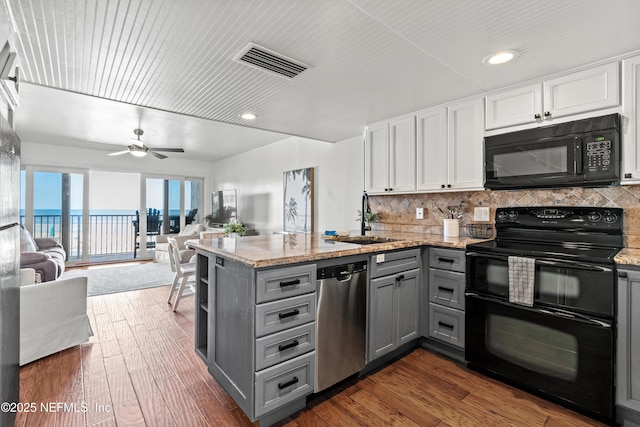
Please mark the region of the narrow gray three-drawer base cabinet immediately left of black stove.
POLYGON ((464 251, 429 248, 429 338, 464 349, 464 289, 464 251))

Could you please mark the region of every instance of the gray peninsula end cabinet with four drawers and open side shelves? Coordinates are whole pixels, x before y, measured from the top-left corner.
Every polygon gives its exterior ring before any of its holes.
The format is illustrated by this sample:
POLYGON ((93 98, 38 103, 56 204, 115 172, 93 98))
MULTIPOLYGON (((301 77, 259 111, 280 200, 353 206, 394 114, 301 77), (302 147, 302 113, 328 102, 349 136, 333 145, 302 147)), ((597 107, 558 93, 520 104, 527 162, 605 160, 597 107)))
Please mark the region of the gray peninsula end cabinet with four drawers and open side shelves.
POLYGON ((196 276, 196 351, 213 377, 251 421, 303 408, 314 389, 316 265, 253 269, 198 252, 196 276))

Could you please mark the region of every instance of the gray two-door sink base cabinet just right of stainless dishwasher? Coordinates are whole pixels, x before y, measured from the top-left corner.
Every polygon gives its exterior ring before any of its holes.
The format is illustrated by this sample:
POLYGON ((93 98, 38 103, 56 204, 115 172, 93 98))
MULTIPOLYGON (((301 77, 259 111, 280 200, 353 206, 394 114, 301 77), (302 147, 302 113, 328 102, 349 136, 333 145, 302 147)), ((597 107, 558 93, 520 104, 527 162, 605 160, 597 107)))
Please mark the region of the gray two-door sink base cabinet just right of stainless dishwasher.
POLYGON ((368 362, 418 338, 420 250, 377 254, 370 266, 368 362))

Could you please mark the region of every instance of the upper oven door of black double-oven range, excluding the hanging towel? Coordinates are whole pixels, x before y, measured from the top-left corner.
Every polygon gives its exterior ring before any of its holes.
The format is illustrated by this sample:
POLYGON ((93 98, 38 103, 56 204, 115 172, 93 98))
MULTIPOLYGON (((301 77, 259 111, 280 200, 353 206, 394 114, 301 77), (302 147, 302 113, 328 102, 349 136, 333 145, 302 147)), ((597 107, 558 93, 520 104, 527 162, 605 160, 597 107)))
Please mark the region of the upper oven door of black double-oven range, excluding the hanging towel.
MULTIPOLYGON (((509 256, 468 251, 467 290, 509 299, 509 256)), ((613 318, 615 274, 598 264, 536 257, 535 305, 613 318)))

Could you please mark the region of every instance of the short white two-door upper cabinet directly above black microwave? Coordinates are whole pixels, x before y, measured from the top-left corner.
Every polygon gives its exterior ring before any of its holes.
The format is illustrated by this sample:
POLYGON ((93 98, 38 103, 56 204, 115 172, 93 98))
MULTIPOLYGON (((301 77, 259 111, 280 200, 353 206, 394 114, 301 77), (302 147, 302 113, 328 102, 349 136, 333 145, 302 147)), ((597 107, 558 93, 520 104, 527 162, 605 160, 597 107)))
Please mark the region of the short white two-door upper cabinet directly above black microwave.
POLYGON ((486 97, 486 129, 542 122, 620 105, 617 62, 486 97))

